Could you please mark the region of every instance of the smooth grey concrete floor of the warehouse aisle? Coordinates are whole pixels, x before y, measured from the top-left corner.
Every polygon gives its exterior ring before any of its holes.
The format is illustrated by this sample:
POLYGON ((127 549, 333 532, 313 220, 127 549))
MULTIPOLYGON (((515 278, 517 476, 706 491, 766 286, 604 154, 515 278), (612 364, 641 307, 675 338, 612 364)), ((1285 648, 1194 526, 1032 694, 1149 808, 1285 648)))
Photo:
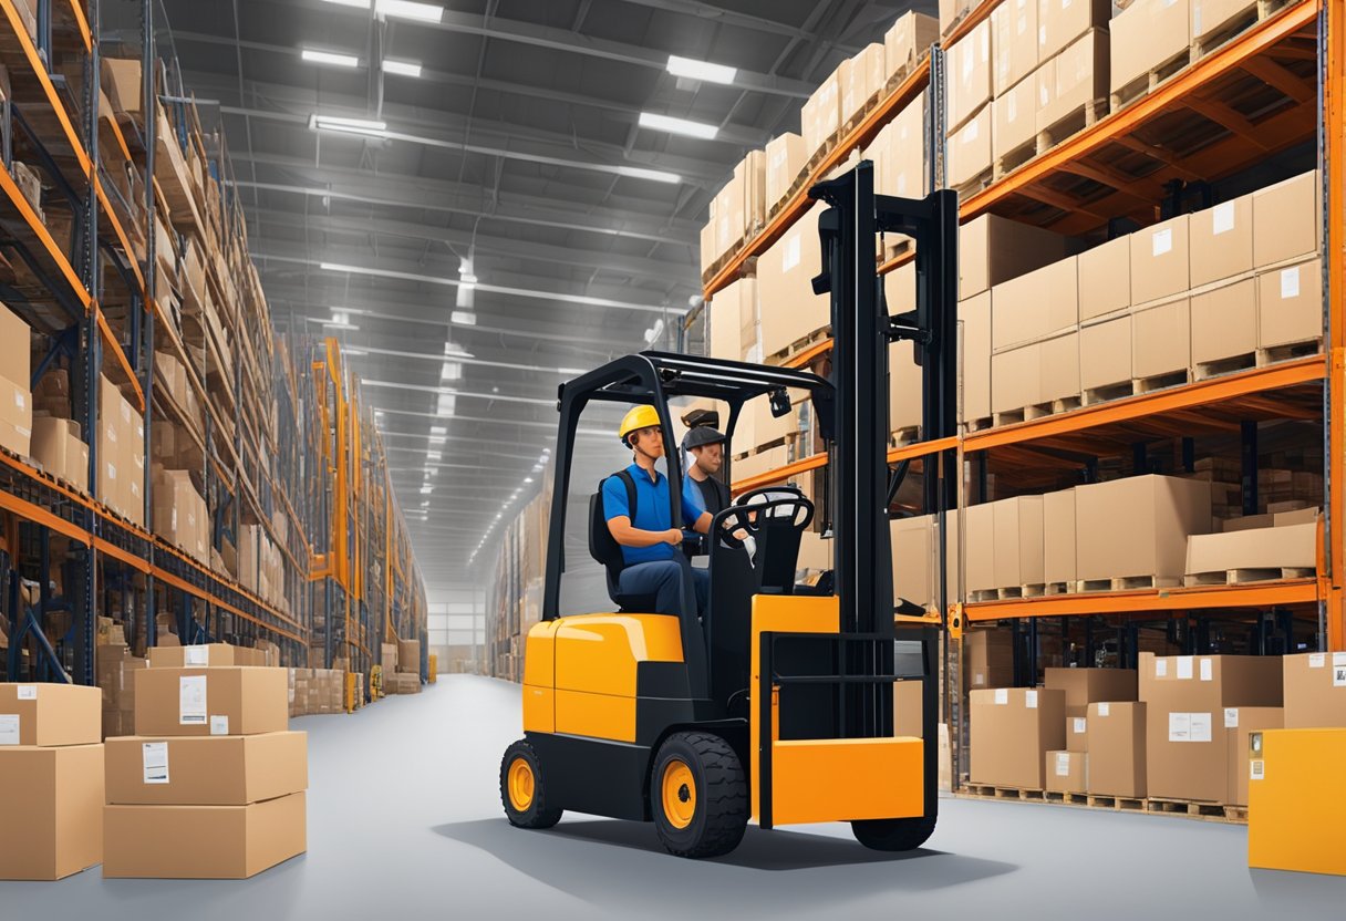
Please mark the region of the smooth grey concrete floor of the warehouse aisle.
MULTIPOLYGON (((927 850, 863 850, 844 825, 762 832, 716 862, 650 825, 567 816, 510 828, 497 770, 518 688, 444 677, 310 732, 308 854, 245 882, 0 883, 0 917, 1112 918, 1342 917, 1346 879, 1249 871, 1246 831, 1034 804, 941 803, 927 850)), ((0 816, 0 833, 4 819, 0 816)))

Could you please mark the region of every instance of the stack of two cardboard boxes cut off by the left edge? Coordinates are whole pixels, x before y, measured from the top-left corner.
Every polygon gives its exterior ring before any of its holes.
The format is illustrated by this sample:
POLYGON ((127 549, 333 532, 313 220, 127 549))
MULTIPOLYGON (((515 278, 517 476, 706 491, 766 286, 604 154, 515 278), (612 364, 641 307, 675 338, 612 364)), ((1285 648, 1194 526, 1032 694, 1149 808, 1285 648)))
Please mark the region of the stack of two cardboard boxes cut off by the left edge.
POLYGON ((98 697, 0 684, 0 879, 61 879, 102 860, 98 697))

